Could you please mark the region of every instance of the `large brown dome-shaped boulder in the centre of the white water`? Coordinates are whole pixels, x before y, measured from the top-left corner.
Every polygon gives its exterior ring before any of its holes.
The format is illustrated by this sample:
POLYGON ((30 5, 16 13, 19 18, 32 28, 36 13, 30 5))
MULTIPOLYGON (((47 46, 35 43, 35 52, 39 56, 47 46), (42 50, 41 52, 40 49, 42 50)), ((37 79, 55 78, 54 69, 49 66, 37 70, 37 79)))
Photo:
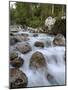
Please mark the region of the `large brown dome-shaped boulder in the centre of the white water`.
POLYGON ((41 52, 35 52, 30 59, 30 68, 41 68, 46 66, 45 58, 41 52))

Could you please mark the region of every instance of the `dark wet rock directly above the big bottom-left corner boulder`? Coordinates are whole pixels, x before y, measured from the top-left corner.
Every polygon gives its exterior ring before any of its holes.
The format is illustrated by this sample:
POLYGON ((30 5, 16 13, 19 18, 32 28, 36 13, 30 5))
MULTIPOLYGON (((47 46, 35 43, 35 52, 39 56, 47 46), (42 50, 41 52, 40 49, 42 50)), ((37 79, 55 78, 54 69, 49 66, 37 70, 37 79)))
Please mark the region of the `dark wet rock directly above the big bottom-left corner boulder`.
POLYGON ((10 64, 13 66, 13 67, 21 67, 24 63, 24 60, 22 58, 15 58, 13 60, 10 60, 10 64))

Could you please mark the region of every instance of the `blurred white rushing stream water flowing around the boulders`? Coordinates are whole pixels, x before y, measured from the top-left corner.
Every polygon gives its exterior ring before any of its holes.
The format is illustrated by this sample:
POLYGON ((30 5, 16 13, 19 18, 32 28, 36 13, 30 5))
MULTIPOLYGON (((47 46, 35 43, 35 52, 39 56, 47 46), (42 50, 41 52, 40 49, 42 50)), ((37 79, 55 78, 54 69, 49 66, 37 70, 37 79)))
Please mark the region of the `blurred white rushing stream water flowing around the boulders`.
MULTIPOLYGON (((24 59, 24 64, 20 68, 28 77, 28 86, 51 86, 51 85, 64 85, 65 84, 65 46, 53 46, 54 36, 46 35, 46 34, 38 34, 37 37, 33 37, 33 33, 29 32, 18 32, 16 34, 27 33, 29 34, 28 42, 32 51, 27 54, 22 54, 19 51, 18 55, 24 59), (35 41, 42 41, 45 45, 44 48, 35 47, 35 41), (41 68, 37 70, 31 70, 29 68, 29 62, 32 54, 36 51, 41 52, 45 60, 47 62, 47 68, 41 68), (53 76, 52 79, 47 79, 47 74, 53 76)), ((23 42, 19 42, 23 43, 23 42)), ((17 44, 16 44, 17 45, 17 44)), ((16 45, 11 46, 10 50, 15 49, 16 45)))

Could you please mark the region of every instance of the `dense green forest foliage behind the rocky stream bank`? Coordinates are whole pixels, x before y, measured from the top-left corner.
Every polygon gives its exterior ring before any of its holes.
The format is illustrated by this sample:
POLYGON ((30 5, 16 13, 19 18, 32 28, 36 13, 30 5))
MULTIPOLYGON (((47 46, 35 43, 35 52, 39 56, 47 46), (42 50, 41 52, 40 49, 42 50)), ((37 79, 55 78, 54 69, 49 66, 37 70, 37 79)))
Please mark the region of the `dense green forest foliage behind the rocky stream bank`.
POLYGON ((48 16, 63 16, 62 7, 62 5, 54 5, 52 12, 51 4, 16 2, 16 9, 10 8, 10 21, 11 24, 27 25, 34 28, 42 27, 48 16))

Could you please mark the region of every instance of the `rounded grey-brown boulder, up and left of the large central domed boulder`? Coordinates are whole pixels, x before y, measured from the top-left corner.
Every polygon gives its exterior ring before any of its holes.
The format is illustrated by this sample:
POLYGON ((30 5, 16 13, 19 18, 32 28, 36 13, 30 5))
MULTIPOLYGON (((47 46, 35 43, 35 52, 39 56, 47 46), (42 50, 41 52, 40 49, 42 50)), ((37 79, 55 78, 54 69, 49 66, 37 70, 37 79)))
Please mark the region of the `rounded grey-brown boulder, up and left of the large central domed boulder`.
POLYGON ((23 54, 26 54, 32 50, 28 43, 18 44, 16 48, 23 54))

